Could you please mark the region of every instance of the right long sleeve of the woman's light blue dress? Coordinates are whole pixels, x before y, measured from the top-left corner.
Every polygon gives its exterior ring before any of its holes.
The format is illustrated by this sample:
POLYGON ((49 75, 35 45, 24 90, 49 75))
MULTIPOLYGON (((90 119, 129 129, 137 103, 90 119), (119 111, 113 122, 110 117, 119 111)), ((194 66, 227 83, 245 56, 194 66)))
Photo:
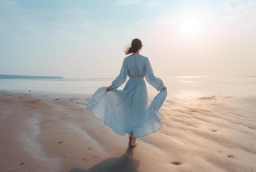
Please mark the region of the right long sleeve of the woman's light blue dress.
POLYGON ((148 58, 146 58, 145 62, 145 78, 150 85, 157 89, 157 91, 160 91, 163 87, 165 87, 161 78, 157 78, 154 75, 153 69, 148 58))

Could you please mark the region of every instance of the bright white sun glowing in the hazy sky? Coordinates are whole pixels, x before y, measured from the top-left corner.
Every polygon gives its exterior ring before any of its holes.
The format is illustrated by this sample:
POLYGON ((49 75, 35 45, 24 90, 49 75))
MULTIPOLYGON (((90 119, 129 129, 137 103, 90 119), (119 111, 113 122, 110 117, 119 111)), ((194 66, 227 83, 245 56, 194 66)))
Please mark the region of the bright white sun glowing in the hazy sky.
POLYGON ((195 17, 185 18, 181 23, 184 32, 193 34, 200 30, 200 21, 195 17))

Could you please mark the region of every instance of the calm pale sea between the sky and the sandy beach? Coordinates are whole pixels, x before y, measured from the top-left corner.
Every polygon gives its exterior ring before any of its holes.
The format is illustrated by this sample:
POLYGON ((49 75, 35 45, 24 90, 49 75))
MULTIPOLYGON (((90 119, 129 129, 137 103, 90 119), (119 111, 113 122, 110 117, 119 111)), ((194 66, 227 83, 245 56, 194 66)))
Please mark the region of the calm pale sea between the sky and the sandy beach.
MULTIPOLYGON (((0 79, 0 91, 93 94, 99 87, 111 85, 114 79, 0 79)), ((256 96, 255 76, 172 76, 164 77, 162 80, 167 87, 168 96, 256 96)), ((146 84, 149 96, 157 94, 154 87, 147 82, 146 84)), ((125 83, 118 89, 123 89, 124 85, 125 83)))

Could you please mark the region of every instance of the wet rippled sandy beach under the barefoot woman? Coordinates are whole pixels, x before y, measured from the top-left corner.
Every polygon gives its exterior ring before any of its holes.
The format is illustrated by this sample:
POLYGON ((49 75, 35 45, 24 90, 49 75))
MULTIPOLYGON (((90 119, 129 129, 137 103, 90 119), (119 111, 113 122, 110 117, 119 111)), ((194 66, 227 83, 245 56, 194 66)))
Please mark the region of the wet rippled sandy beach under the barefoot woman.
POLYGON ((90 98, 1 91, 0 171, 256 172, 255 96, 168 97, 163 127, 135 148, 86 109, 90 98))

